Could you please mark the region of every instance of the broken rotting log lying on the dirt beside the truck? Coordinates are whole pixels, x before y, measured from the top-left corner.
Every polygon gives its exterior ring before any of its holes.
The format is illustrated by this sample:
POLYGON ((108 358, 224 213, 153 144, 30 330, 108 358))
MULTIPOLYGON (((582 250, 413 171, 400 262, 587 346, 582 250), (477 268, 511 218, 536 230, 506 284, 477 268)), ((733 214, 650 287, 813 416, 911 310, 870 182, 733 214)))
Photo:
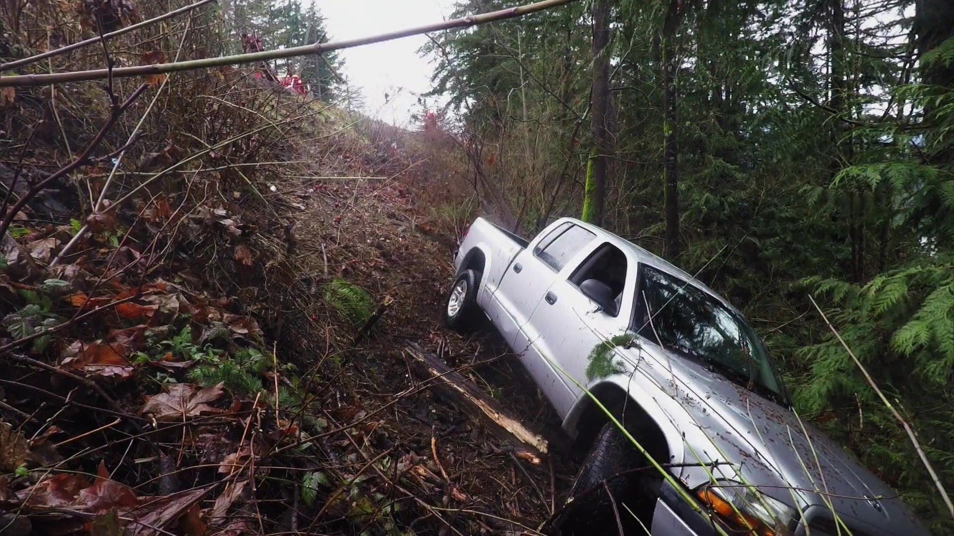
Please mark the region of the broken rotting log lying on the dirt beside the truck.
POLYGON ((547 454, 547 440, 508 415, 500 402, 491 399, 472 381, 417 343, 409 343, 404 355, 409 358, 414 374, 423 380, 433 380, 430 387, 434 393, 484 423, 490 433, 513 447, 518 458, 531 464, 540 464, 540 456, 547 454))

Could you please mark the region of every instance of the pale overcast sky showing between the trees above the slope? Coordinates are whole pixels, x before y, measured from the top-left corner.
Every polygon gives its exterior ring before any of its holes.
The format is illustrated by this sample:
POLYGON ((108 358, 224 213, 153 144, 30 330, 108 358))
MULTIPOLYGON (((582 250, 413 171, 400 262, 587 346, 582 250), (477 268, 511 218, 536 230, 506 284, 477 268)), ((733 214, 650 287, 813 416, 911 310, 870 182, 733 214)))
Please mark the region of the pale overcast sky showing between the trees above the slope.
MULTIPOLYGON (((453 0, 314 0, 330 39, 351 39, 444 20, 453 0)), ((419 93, 430 90, 433 66, 417 50, 427 42, 414 35, 340 51, 344 74, 364 94, 365 112, 404 126, 421 113, 419 93), (387 97, 385 97, 385 94, 387 97)))

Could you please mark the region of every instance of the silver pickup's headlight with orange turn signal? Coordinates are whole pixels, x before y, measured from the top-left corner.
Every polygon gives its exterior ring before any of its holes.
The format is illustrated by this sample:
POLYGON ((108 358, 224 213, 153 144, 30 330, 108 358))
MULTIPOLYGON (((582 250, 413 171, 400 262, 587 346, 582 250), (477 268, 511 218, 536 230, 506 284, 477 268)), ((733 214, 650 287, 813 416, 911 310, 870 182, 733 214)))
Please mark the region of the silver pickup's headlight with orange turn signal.
POLYGON ((754 487, 733 481, 704 484, 695 490, 703 505, 734 528, 758 536, 790 534, 788 524, 798 517, 792 506, 759 493, 754 487))

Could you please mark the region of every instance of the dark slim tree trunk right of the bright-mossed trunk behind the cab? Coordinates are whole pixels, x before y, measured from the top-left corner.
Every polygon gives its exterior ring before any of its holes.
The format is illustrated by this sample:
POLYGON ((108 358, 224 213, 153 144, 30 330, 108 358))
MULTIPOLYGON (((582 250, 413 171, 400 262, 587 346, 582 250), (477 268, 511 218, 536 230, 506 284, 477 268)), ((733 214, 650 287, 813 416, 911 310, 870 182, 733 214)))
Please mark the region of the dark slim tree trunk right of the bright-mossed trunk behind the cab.
POLYGON ((673 40, 675 31, 682 16, 682 3, 672 0, 666 12, 666 22, 663 25, 662 42, 660 43, 660 68, 662 70, 662 132, 663 132, 663 177, 665 179, 666 199, 666 255, 676 258, 681 253, 679 243, 679 167, 678 167, 678 124, 676 123, 675 108, 677 93, 675 87, 675 70, 673 40))

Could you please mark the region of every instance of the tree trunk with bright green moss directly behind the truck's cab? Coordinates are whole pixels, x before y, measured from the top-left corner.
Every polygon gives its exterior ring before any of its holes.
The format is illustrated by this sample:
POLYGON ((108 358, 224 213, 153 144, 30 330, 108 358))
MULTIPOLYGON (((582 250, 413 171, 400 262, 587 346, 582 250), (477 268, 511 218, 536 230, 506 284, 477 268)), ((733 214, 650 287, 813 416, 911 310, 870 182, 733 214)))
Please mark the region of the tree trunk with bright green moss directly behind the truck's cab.
POLYGON ((587 170, 586 194, 583 199, 583 219, 595 225, 603 224, 606 206, 607 157, 612 152, 610 140, 610 2, 594 0, 593 9, 593 85, 592 114, 594 154, 587 170))

